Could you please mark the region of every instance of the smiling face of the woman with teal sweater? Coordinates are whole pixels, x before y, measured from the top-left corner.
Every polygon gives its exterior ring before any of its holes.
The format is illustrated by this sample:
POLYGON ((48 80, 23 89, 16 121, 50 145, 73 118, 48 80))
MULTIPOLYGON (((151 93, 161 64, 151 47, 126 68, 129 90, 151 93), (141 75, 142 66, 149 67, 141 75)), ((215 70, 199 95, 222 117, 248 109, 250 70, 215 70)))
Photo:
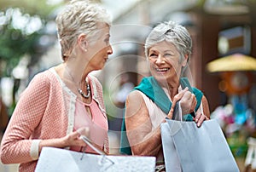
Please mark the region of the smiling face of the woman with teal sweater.
POLYGON ((150 72, 159 83, 178 79, 187 58, 182 58, 177 48, 166 41, 154 44, 148 49, 150 72))

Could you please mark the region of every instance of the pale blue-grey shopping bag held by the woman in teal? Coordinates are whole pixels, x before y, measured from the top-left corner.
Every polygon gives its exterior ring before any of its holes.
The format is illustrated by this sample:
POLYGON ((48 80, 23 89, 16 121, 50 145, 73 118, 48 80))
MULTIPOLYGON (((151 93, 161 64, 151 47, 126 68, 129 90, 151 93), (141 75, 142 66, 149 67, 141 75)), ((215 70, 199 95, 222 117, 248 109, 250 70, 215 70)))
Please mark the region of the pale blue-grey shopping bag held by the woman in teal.
POLYGON ((166 119, 161 139, 167 172, 239 172, 215 119, 204 121, 200 128, 195 122, 166 119))

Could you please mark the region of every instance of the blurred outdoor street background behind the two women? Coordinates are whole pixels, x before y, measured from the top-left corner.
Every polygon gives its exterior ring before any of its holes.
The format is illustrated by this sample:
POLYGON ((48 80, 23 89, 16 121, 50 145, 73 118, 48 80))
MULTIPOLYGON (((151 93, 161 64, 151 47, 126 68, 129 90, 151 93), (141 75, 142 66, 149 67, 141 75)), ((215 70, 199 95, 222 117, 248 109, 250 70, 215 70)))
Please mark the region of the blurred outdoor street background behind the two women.
MULTIPOLYGON (((66 1, 67 2, 67 1, 66 1)), ((148 76, 143 43, 152 26, 174 20, 193 38, 190 59, 192 85, 209 100, 212 118, 218 118, 236 158, 244 160, 247 138, 256 137, 256 7, 255 0, 97 0, 112 14, 113 54, 101 72, 113 152, 118 149, 123 106, 116 93, 126 83, 137 85, 148 76), (247 64, 228 59, 232 55, 247 64), (244 56, 246 55, 246 56, 244 56), (221 64, 231 64, 230 67, 221 64), (220 67, 220 68, 218 68, 220 67), (215 70, 214 70, 215 69, 215 70)), ((1 116, 11 117, 19 95, 38 72, 61 62, 55 15, 62 0, 2 0, 0 2, 1 116)), ((236 58, 235 58, 236 59, 236 58)), ((127 89, 125 89, 127 90, 127 89)), ((123 94, 125 96, 125 94, 123 94)), ((6 118, 0 118, 4 131, 6 118)))

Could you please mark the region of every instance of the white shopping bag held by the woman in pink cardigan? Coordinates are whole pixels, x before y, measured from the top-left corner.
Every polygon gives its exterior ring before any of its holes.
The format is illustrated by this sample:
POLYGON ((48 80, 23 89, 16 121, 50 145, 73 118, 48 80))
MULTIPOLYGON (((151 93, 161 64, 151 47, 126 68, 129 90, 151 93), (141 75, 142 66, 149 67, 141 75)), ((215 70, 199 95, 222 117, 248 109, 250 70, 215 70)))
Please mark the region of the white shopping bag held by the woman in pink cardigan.
POLYGON ((44 147, 38 159, 36 172, 154 172, 154 157, 96 155, 66 149, 44 147))

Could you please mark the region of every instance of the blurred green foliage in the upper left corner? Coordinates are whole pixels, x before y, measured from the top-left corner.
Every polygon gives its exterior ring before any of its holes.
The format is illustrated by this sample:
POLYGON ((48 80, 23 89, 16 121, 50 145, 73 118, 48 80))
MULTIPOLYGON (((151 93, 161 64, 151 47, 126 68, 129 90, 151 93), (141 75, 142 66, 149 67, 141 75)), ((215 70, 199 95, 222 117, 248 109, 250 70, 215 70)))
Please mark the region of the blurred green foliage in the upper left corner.
MULTIPOLYGON (((54 20, 54 9, 60 4, 49 4, 47 0, 2 0, 0 1, 0 77, 9 77, 20 58, 29 55, 37 62, 47 49, 39 44, 44 36, 44 27, 54 20), (2 10, 1 10, 2 9, 2 10), (21 20, 17 21, 17 16, 21 20), (39 20, 38 29, 27 32, 32 20, 39 20), (23 20, 23 22, 22 22, 23 20), (18 26, 15 26, 15 22, 18 26), (22 26, 23 25, 23 26, 22 26)), ((35 25, 35 24, 34 24, 35 25)))

